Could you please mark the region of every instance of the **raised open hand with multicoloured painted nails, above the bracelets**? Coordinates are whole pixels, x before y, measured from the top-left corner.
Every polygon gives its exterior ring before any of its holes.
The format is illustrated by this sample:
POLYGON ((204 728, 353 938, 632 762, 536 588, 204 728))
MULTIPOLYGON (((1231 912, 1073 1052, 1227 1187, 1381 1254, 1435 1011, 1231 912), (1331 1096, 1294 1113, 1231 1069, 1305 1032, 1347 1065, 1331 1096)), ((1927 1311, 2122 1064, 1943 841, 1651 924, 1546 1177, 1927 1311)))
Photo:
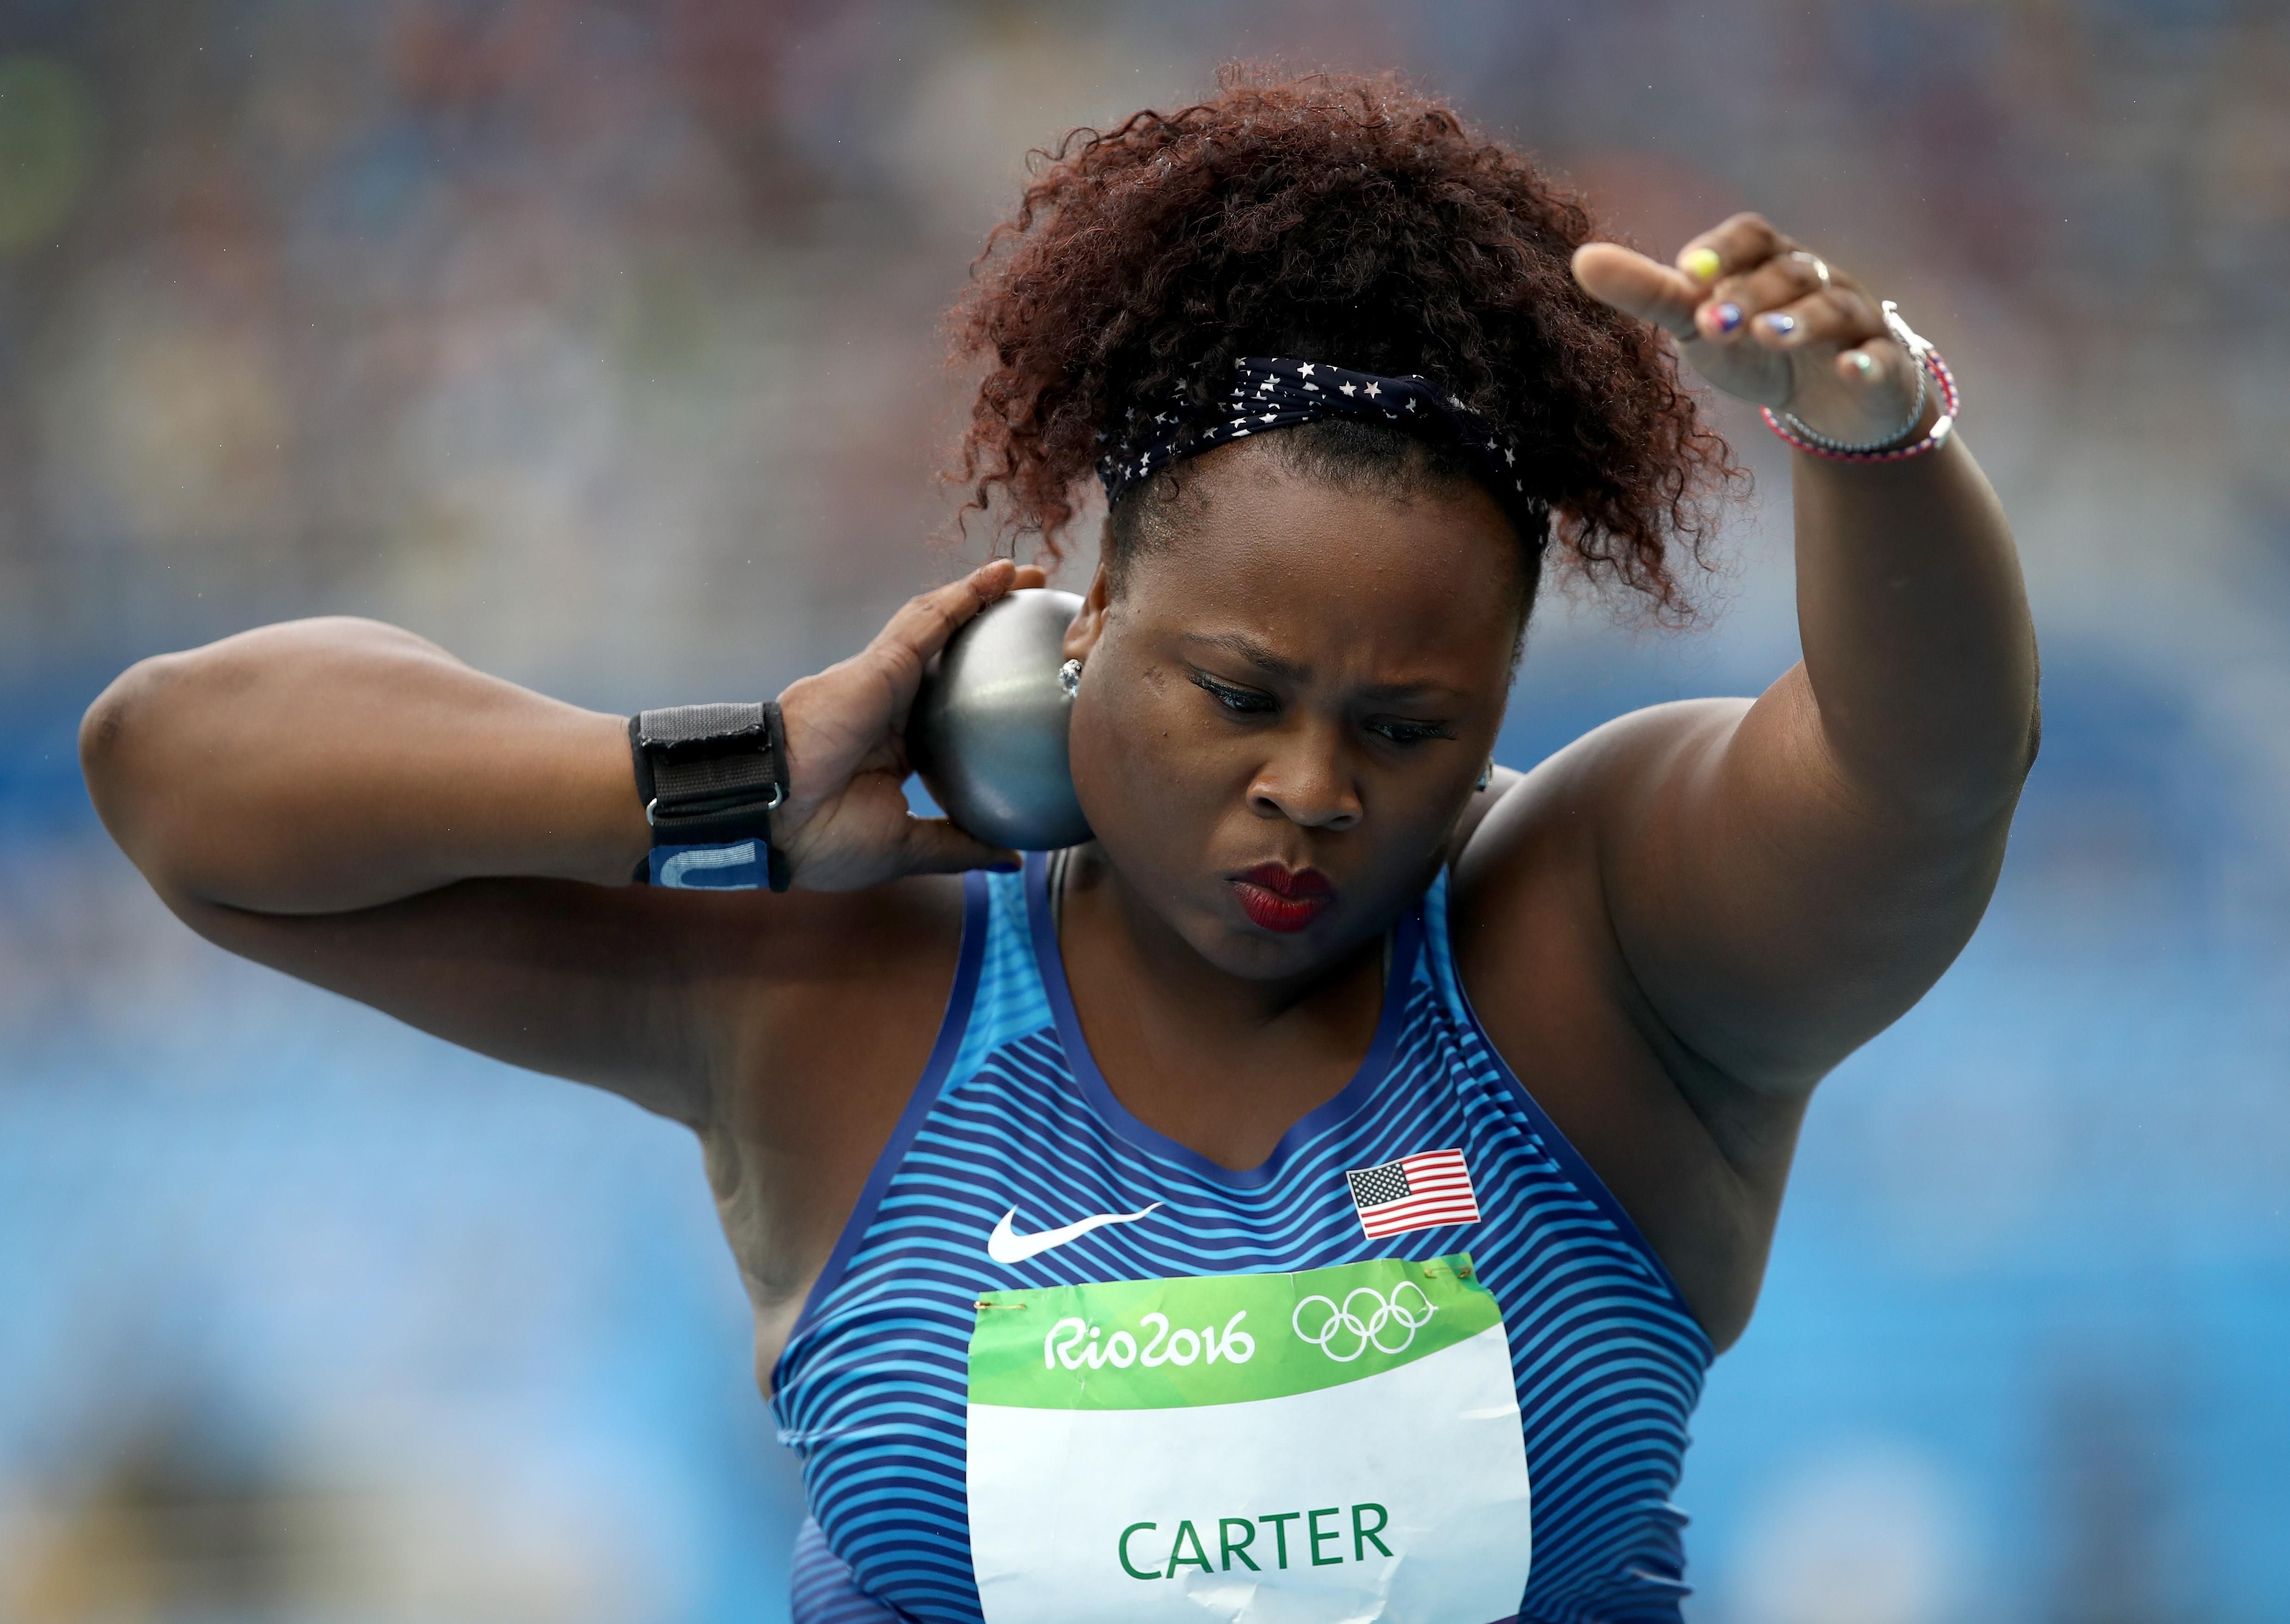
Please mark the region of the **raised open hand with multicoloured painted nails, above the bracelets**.
POLYGON ((1727 394, 1786 408, 1846 444, 1921 428, 1908 421, 1917 362, 1887 332, 1878 302, 1763 215, 1704 231, 1674 266, 1619 243, 1585 243, 1573 273, 1592 295, 1669 332, 1727 394))

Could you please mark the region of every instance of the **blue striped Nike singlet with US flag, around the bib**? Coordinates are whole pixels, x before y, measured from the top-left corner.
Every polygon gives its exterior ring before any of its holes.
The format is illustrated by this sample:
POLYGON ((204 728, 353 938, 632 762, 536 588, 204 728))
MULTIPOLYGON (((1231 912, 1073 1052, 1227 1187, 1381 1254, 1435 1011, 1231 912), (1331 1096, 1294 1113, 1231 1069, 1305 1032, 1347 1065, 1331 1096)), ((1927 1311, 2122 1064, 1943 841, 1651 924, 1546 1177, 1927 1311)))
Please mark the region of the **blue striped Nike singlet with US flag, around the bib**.
MULTIPOLYGON (((1500 1306, 1532 1477, 1516 1617, 1679 1622, 1685 1516, 1669 1496, 1713 1347, 1479 1028, 1447 941, 1445 877, 1388 957, 1358 1074, 1262 1166, 1234 1173, 1106 1088, 1074 1017, 1044 861, 969 875, 937 1047, 772 1374, 811 1505, 797 1624, 982 1617, 966 1461, 982 1294, 1463 1253, 1500 1306), (1461 1152, 1477 1221, 1372 1239, 1363 1203, 1390 1191, 1351 1175, 1427 1152, 1461 1152), (1012 1209, 1037 1241, 1122 1216, 994 1262, 987 1239, 1012 1209)), ((1122 1546, 1124 1564, 1140 1548, 1122 1546)), ((1342 1539, 1330 1548, 1344 1555, 1342 1539)), ((1090 1615, 1074 1597, 1072 1617, 1090 1615)))

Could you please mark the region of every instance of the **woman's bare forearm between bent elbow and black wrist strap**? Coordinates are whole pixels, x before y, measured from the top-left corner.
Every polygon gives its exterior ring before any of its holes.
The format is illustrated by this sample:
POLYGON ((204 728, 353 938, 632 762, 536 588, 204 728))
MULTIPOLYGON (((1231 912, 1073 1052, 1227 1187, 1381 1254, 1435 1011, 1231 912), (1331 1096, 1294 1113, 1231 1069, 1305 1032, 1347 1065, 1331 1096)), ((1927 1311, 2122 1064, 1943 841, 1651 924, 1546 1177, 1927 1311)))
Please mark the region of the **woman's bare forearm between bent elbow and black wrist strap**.
POLYGON ((625 884, 650 845, 625 717, 376 621, 144 660, 89 708, 80 763, 169 905, 346 914, 474 877, 625 884))

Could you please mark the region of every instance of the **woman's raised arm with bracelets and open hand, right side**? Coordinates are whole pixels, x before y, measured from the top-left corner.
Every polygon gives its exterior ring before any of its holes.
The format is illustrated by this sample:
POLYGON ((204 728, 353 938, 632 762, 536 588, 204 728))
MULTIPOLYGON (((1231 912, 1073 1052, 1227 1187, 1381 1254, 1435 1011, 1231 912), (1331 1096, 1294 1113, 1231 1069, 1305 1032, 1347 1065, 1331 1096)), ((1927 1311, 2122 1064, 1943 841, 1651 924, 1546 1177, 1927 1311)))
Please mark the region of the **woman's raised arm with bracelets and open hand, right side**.
MULTIPOLYGON (((1878 302, 1756 215, 1674 268, 1592 245, 1576 275, 1665 325, 1720 389, 1832 442, 1914 442, 1937 417, 1937 387, 1914 410, 1917 362, 1878 302)), ((1972 937, 2038 731, 2020 563, 1963 442, 1791 460, 1802 662, 1747 705, 1624 717, 1548 763, 1532 797, 1598 831, 1614 946, 1669 1035, 1782 1095, 1882 1031, 1972 937)))

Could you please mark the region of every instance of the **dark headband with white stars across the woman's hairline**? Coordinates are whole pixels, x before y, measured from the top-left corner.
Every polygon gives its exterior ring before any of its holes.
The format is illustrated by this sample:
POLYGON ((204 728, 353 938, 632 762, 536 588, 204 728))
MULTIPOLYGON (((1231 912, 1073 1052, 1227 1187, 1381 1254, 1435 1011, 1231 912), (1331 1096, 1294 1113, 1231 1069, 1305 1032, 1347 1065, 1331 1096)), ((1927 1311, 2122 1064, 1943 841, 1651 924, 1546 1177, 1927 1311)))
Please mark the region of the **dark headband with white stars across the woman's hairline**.
POLYGON ((1518 447, 1461 399, 1429 378, 1383 378, 1287 355, 1243 355, 1232 392, 1216 405, 1170 405, 1152 415, 1131 410, 1120 442, 1097 460, 1097 476, 1106 483, 1111 506, 1131 486, 1209 447, 1321 417, 1395 424, 1422 440, 1456 447, 1518 534, 1537 550, 1550 541, 1550 504, 1527 495, 1518 447))

